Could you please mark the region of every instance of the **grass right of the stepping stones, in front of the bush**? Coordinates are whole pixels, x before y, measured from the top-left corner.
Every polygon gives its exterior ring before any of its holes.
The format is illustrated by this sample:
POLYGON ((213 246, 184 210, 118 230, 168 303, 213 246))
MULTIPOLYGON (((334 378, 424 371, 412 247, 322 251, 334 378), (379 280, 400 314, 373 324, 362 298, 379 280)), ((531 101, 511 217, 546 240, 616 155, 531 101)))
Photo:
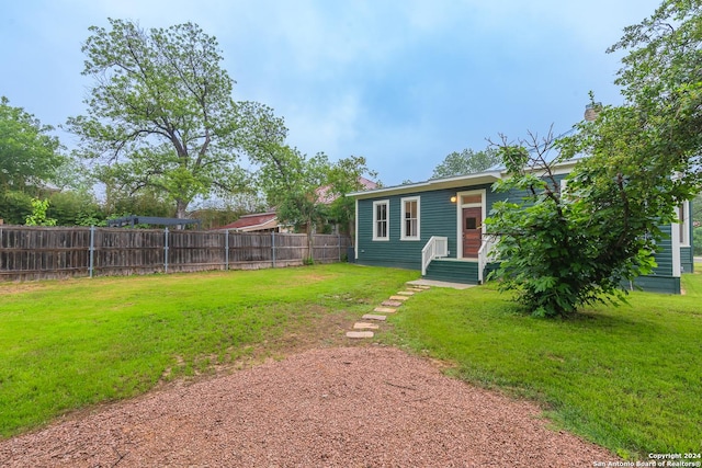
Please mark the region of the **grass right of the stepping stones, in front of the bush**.
POLYGON ((534 399, 557 426, 620 456, 699 454, 702 274, 684 275, 683 288, 561 321, 524 315, 492 285, 433 288, 403 306, 384 339, 449 361, 466 381, 534 399))

